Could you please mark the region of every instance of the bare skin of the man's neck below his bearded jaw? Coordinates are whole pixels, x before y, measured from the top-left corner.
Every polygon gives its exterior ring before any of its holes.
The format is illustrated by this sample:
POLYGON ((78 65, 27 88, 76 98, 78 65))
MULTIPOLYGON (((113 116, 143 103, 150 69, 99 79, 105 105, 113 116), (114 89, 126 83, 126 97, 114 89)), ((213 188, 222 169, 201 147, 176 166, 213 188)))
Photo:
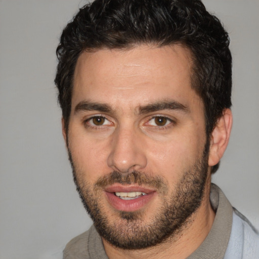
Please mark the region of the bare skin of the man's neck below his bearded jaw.
POLYGON ((174 237, 169 237, 161 244, 141 250, 119 249, 103 239, 107 256, 113 259, 152 259, 157 258, 158 254, 159 258, 184 259, 188 257, 205 240, 215 218, 215 212, 209 201, 210 177, 208 178, 201 206, 191 215, 186 226, 174 237))

